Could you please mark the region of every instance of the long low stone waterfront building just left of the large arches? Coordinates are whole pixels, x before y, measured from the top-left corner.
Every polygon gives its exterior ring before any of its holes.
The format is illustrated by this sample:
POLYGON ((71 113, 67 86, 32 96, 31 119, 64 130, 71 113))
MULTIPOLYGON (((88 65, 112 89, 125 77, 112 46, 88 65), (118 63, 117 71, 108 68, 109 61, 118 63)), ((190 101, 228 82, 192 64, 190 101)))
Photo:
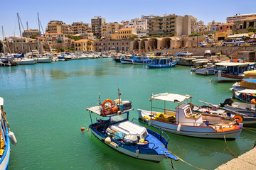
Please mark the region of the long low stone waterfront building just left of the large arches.
POLYGON ((132 40, 99 40, 95 42, 95 51, 130 51, 132 40))

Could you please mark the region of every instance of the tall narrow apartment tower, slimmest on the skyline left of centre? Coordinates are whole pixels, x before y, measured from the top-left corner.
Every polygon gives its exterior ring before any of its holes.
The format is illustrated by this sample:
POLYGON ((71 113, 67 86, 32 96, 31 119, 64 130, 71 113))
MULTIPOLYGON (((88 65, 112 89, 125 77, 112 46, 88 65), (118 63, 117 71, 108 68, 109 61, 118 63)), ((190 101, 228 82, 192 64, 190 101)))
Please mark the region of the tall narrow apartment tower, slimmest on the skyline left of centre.
POLYGON ((96 38, 101 38, 102 37, 102 24, 106 23, 106 19, 102 18, 101 16, 95 16, 94 18, 91 19, 91 24, 92 24, 92 33, 96 36, 96 38))

